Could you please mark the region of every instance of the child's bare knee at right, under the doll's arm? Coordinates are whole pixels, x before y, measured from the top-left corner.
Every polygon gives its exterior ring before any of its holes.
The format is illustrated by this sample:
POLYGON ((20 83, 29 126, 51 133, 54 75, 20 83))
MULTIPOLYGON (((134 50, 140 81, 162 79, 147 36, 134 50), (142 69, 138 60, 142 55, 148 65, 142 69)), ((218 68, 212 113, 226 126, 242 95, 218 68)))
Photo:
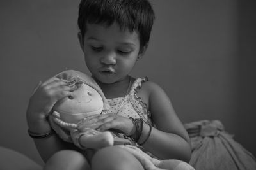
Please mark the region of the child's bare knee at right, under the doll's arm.
POLYGON ((92 170, 143 170, 140 162, 118 146, 102 148, 93 155, 92 170))

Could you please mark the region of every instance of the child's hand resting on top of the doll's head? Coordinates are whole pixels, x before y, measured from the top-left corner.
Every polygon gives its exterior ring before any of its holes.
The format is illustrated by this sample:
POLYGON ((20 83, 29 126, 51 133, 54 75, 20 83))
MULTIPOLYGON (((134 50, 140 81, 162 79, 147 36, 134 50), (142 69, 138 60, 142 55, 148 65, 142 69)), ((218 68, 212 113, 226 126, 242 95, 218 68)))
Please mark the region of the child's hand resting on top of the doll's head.
POLYGON ((45 118, 54 104, 76 90, 76 85, 68 86, 67 81, 52 77, 44 83, 39 83, 29 99, 27 114, 31 117, 45 118))

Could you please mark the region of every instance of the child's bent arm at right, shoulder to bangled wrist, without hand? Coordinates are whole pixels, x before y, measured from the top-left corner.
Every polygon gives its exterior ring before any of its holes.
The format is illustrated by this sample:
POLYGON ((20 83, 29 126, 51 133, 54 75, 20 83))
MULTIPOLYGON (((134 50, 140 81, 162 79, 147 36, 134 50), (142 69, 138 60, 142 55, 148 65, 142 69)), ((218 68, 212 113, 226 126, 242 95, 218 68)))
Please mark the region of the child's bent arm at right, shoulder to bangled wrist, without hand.
MULTIPOLYGON (((138 96, 148 104, 152 120, 156 124, 143 147, 160 159, 180 159, 188 162, 191 156, 189 136, 164 90, 156 83, 147 81, 143 83, 138 96)), ((147 138, 149 131, 149 126, 144 124, 138 143, 147 138)))

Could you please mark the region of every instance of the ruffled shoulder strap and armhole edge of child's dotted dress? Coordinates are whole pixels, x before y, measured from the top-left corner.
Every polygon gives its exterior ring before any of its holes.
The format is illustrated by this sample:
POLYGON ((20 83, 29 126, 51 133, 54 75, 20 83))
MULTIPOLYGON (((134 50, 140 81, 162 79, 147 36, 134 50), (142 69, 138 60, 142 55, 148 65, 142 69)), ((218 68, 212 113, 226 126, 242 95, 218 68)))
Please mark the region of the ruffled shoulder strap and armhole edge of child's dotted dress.
POLYGON ((141 89, 142 83, 145 81, 148 81, 148 78, 137 78, 131 88, 131 91, 129 93, 129 100, 131 101, 131 104, 133 108, 137 111, 137 113, 140 115, 142 120, 148 124, 152 125, 151 120, 151 113, 148 110, 148 106, 146 103, 142 101, 140 97, 137 96, 137 93, 141 89))

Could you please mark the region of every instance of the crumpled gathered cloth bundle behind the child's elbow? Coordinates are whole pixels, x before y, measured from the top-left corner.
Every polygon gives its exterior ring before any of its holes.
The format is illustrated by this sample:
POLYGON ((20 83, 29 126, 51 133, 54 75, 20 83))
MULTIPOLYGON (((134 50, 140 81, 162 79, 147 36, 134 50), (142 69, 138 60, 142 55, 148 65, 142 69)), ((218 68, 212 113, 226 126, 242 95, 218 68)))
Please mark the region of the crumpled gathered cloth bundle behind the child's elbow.
POLYGON ((256 159, 219 120, 201 120, 185 124, 192 146, 189 164, 196 170, 255 170, 256 159))

